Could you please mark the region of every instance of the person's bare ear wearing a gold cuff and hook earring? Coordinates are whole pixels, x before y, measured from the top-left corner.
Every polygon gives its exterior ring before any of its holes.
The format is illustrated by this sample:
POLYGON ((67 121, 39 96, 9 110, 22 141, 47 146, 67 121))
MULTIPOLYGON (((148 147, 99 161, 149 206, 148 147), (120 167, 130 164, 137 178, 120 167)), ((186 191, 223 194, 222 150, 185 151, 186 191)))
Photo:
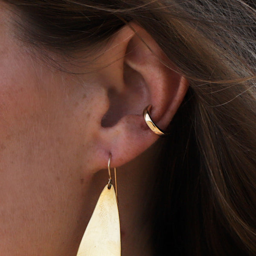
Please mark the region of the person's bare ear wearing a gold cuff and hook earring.
MULTIPOLYGON (((112 166, 121 166, 150 147, 158 136, 143 119, 151 104, 151 117, 164 130, 172 121, 188 87, 187 80, 154 39, 136 23, 120 29, 99 58, 108 105, 98 129, 97 154, 112 154, 112 166)), ((98 162, 100 165, 101 161, 98 162)))

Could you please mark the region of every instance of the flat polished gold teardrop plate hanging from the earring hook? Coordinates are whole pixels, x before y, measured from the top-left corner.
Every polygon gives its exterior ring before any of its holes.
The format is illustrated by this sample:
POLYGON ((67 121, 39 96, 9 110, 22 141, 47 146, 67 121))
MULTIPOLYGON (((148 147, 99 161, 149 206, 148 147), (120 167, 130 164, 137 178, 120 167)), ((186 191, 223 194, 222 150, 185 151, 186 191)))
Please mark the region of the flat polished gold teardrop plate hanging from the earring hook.
POLYGON ((108 185, 102 190, 84 232, 77 256, 120 256, 121 237, 116 193, 108 185))

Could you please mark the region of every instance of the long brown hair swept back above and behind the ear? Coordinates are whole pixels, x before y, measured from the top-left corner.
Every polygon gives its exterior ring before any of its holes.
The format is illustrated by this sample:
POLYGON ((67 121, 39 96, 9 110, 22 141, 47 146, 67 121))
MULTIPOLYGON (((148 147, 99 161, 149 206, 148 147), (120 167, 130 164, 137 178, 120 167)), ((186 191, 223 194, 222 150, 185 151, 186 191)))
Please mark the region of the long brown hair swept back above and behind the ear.
POLYGON ((151 34, 190 85, 170 126, 172 136, 159 142, 156 254, 255 255, 253 1, 5 2, 22 17, 16 19, 19 38, 40 51, 89 52, 124 21, 134 20, 151 34))

